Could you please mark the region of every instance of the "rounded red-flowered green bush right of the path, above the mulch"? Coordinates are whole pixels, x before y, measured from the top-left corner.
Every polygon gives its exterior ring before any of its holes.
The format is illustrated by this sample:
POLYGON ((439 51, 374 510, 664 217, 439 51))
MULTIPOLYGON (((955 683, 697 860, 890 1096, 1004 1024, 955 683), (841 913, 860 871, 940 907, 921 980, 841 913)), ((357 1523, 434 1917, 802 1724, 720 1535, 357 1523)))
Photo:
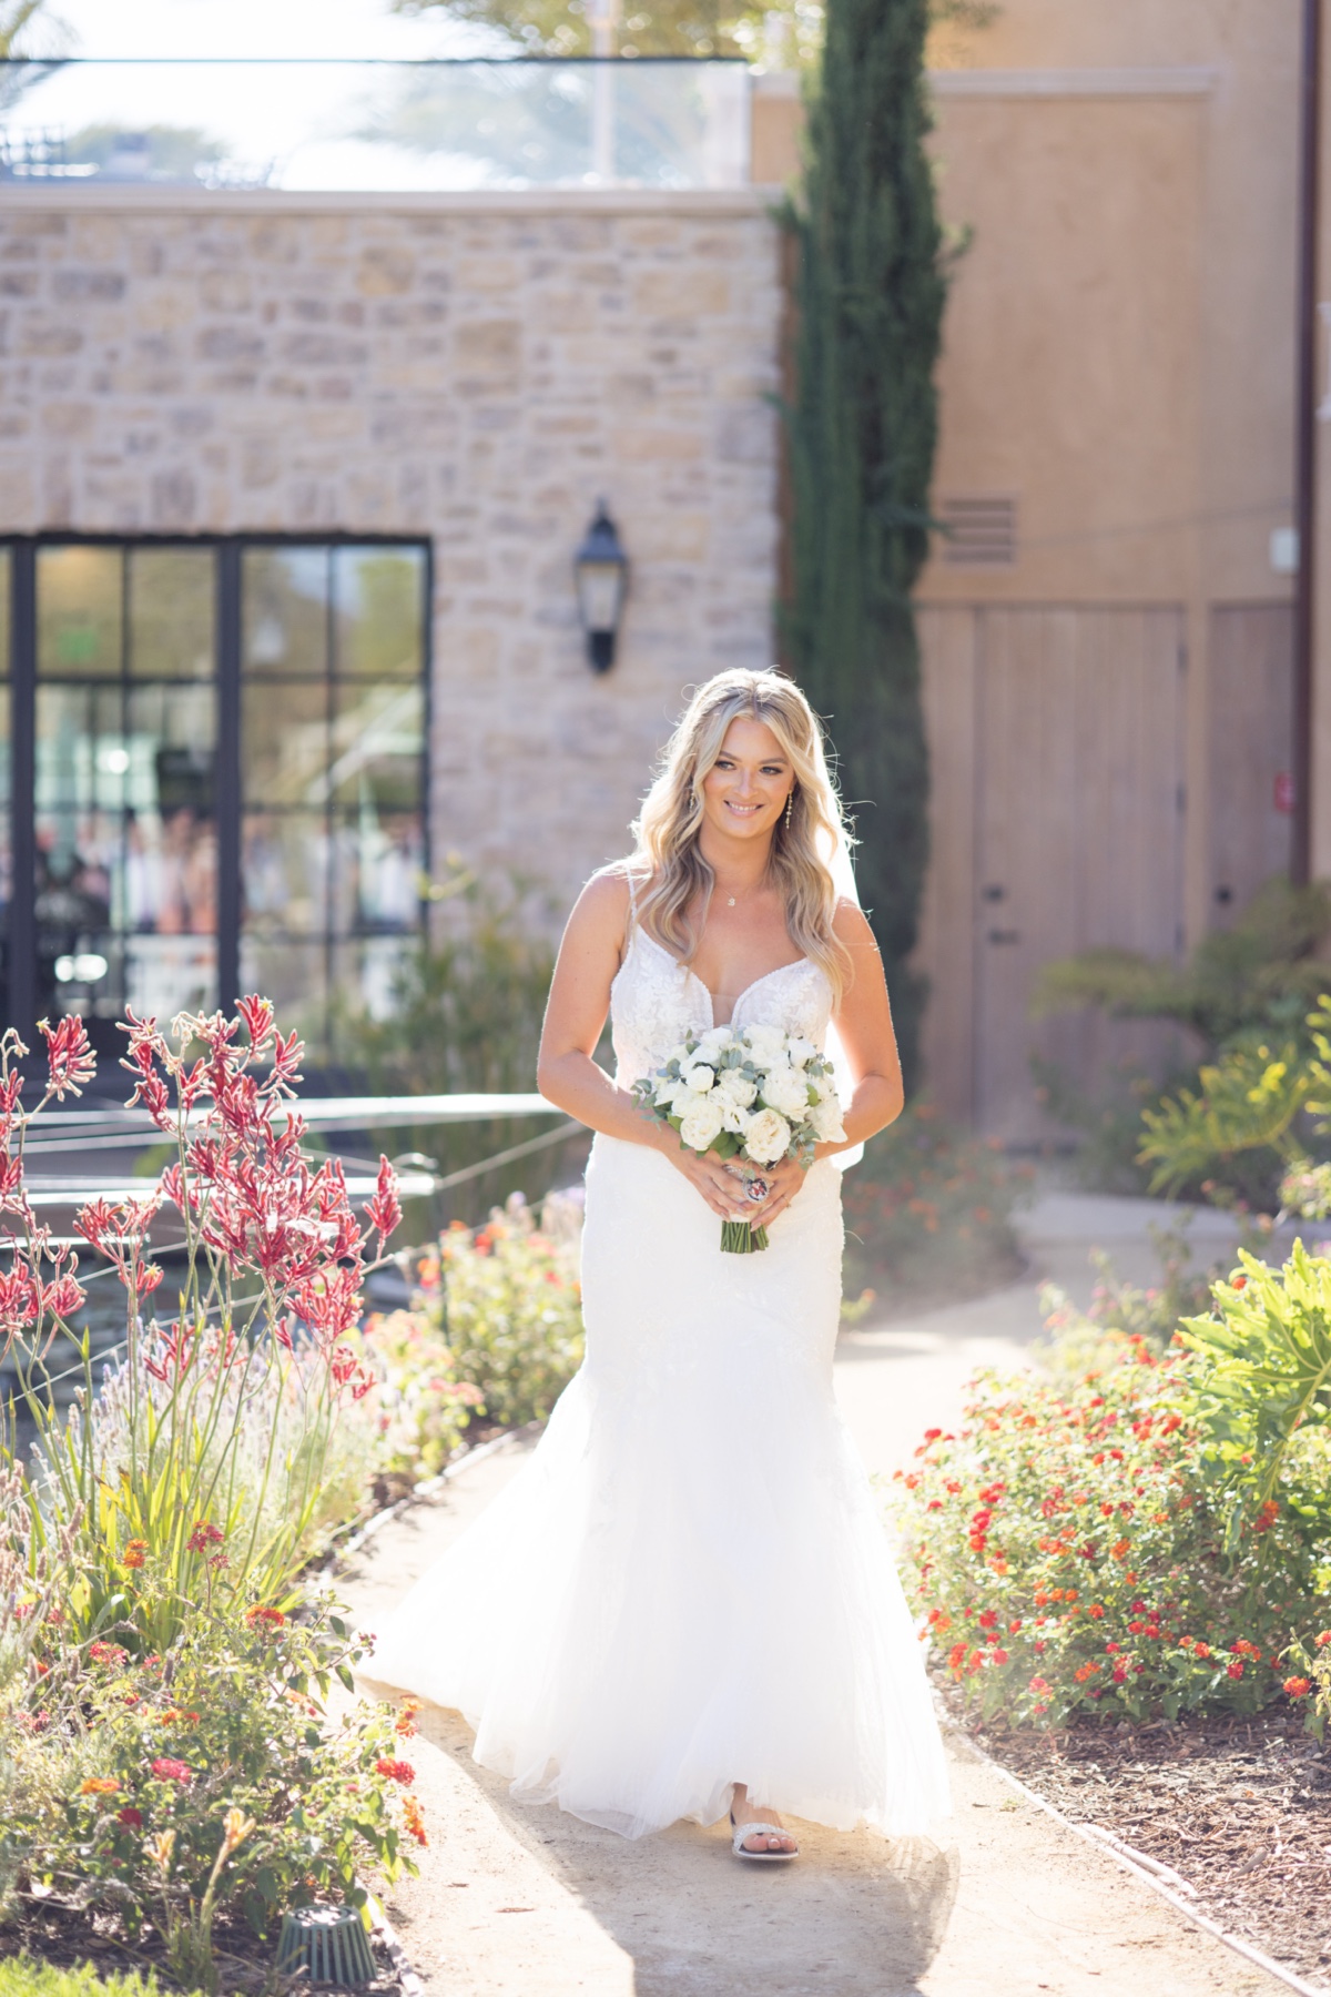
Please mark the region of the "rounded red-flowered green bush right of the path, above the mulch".
POLYGON ((1102 1354, 1072 1384, 982 1376, 898 1474, 922 1634, 986 1715, 1255 1711, 1291 1675, 1319 1528, 1285 1488, 1235 1510, 1197 1356, 1102 1354))

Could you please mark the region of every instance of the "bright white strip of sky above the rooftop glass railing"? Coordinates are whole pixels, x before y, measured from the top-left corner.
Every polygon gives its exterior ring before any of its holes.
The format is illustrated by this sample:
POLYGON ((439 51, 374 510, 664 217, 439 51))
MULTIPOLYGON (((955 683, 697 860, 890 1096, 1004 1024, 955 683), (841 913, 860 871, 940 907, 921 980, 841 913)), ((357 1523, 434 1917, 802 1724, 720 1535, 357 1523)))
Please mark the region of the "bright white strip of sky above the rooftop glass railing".
POLYGON ((485 30, 383 0, 48 0, 72 56, 467 56, 485 30))

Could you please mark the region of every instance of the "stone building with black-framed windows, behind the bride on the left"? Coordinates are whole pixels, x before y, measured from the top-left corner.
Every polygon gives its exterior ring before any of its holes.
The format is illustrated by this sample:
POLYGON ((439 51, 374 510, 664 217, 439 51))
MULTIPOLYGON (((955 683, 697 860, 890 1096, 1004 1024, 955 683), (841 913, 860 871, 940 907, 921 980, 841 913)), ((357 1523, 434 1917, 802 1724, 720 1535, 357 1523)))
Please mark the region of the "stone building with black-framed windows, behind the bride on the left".
POLYGON ((748 190, 6 188, 16 1016, 220 977, 319 1042, 427 857, 567 901, 627 851, 684 687, 770 661, 778 320, 748 190))

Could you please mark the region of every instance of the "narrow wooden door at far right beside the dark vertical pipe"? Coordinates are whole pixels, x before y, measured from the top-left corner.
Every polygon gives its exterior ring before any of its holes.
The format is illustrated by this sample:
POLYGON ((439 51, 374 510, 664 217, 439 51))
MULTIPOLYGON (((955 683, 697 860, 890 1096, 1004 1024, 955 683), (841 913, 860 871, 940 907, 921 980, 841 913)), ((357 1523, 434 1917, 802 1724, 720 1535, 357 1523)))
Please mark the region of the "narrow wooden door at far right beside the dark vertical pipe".
POLYGON ((1211 923, 1227 927, 1271 875, 1293 827, 1293 611, 1217 603, 1209 661, 1211 923))

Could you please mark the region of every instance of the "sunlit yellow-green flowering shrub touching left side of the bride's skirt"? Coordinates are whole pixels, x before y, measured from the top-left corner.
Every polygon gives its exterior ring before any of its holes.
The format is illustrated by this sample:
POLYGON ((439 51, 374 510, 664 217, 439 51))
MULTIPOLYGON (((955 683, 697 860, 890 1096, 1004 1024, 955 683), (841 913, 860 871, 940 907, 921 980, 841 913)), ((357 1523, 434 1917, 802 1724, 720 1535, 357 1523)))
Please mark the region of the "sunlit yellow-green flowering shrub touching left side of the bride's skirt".
POLYGON ((503 1428, 539 1422, 583 1362, 581 1208, 515 1194, 475 1232, 455 1224, 419 1264, 421 1308, 461 1380, 503 1428))

